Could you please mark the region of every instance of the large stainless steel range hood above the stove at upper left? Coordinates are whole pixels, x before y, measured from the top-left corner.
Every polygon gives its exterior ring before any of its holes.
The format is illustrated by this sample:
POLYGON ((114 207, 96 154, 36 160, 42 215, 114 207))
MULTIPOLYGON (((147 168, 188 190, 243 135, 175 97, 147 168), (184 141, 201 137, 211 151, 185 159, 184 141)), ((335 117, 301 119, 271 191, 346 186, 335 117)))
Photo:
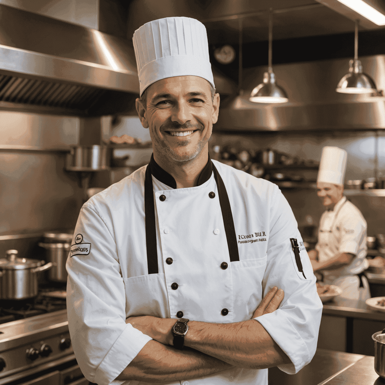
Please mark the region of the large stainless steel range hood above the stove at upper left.
POLYGON ((0 107, 95 114, 102 99, 127 99, 139 93, 128 43, 0 5, 0 107))

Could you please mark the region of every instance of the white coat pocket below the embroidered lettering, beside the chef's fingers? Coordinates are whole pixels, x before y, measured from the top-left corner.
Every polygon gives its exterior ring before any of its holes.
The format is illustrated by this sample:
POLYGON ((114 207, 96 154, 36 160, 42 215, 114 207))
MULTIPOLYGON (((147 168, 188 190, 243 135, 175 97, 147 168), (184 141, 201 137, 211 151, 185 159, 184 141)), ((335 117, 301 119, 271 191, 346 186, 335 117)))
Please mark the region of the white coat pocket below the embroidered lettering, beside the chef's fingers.
POLYGON ((266 271, 267 254, 262 258, 244 259, 230 263, 233 278, 234 320, 251 319, 262 300, 262 280, 266 271))

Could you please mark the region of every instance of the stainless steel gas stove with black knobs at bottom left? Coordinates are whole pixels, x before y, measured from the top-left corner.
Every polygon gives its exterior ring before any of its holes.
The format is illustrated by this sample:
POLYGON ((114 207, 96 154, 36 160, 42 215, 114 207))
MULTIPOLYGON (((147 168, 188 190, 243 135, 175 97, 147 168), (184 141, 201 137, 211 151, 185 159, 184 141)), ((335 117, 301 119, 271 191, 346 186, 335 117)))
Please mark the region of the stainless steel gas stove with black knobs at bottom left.
POLYGON ((88 384, 72 350, 64 290, 47 287, 29 300, 0 301, 0 385, 40 384, 51 375, 47 383, 70 383, 68 373, 88 384))

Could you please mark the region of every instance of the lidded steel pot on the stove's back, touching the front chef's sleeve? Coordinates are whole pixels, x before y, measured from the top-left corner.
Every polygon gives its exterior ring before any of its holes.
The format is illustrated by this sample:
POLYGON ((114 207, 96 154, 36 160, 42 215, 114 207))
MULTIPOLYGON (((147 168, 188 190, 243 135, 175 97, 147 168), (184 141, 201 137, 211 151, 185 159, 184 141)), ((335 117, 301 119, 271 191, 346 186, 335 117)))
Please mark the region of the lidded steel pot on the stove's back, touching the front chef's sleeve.
POLYGON ((73 232, 44 233, 44 243, 39 243, 39 246, 46 249, 46 259, 53 265, 48 273, 50 281, 67 282, 65 263, 67 262, 73 236, 73 232))

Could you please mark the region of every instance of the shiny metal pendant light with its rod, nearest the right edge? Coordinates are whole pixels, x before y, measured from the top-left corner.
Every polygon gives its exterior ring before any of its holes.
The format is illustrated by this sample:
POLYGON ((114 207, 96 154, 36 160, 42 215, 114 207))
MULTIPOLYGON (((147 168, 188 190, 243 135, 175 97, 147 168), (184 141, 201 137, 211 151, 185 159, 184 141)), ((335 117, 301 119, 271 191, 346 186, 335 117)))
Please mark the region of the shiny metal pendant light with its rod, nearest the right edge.
POLYGON ((349 61, 349 73, 338 83, 336 91, 343 94, 372 94, 377 92, 373 79, 362 72, 362 64, 358 60, 358 22, 354 31, 354 60, 349 61))

